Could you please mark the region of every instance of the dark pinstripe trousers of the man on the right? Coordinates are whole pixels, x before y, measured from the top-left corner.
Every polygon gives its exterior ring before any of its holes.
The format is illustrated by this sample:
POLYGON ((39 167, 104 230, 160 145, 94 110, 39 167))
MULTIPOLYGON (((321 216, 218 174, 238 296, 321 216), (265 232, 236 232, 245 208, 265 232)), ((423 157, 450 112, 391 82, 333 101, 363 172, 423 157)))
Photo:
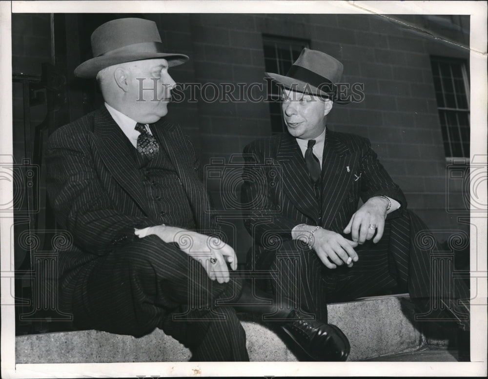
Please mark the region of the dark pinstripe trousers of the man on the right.
POLYGON ((279 298, 292 299, 296 308, 325 322, 327 303, 405 292, 417 314, 429 315, 426 319, 467 320, 467 308, 458 301, 469 299, 468 287, 446 276, 435 264, 431 249, 415 239, 428 231, 423 221, 411 211, 400 213, 386 221, 377 244, 366 241, 355 248, 359 261, 351 268, 328 269, 313 250, 297 241, 285 241, 279 249, 267 251, 256 268, 269 267, 275 273, 272 284, 279 298), (450 306, 439 309, 446 302, 450 306))

